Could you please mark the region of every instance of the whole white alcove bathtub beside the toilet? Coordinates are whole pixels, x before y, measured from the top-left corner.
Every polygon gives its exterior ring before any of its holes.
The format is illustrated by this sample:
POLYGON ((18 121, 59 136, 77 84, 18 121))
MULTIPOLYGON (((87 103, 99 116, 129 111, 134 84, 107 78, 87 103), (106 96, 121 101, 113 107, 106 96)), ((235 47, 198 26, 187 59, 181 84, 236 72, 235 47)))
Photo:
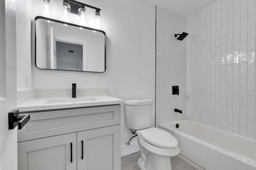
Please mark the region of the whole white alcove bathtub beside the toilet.
POLYGON ((176 137, 182 156, 206 170, 256 170, 254 139, 188 120, 160 128, 176 137))

